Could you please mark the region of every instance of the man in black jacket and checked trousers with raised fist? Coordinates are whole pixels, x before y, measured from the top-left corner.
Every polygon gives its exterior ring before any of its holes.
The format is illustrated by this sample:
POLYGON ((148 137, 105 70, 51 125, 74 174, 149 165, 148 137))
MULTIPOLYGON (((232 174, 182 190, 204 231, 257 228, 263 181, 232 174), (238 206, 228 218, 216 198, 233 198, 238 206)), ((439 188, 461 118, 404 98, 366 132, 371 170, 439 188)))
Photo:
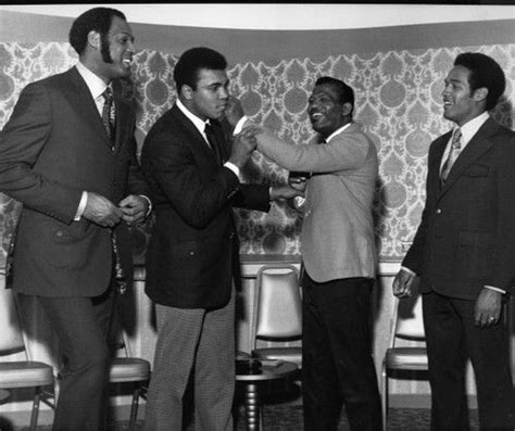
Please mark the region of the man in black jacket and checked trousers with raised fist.
MULTIPOLYGON (((196 429, 233 429, 233 286, 239 281, 233 206, 268 211, 271 200, 297 194, 288 186, 240 182, 255 141, 230 145, 224 136, 218 119, 229 105, 231 113, 238 111, 226 66, 225 58, 208 48, 180 56, 174 71, 178 99, 149 131, 141 154, 156 215, 146 280, 159 333, 146 411, 149 431, 181 429, 190 375, 196 429)), ((241 113, 227 119, 235 126, 237 117, 241 113)))

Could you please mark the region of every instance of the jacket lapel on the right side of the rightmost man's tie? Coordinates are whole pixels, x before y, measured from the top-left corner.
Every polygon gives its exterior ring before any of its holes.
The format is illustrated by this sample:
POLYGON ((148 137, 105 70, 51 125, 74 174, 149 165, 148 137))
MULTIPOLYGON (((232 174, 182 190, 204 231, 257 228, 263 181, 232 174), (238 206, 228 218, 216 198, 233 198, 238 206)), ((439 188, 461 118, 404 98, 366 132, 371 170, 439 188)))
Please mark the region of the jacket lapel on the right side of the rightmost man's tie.
MULTIPOLYGON (((460 178, 463 172, 470 166, 478 157, 480 157, 485 152, 491 149, 493 142, 489 137, 495 131, 499 126, 497 123, 489 118, 474 135, 473 139, 465 147, 465 150, 462 151, 456 162, 452 166, 452 169, 449 174, 449 177, 445 181, 445 185, 442 187, 441 194, 444 194, 454 182, 460 178)), ((440 157, 441 161, 441 157, 440 157)))

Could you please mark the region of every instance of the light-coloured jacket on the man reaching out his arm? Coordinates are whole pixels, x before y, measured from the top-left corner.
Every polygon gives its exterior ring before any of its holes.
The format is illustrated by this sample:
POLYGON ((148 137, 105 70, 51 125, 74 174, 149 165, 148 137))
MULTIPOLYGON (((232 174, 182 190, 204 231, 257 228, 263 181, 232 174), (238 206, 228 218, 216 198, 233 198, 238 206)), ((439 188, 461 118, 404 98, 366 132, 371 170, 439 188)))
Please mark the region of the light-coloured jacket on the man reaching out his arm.
POLYGON ((312 172, 302 223, 302 259, 317 282, 375 277, 372 205, 378 173, 372 140, 352 123, 326 144, 288 143, 268 131, 258 149, 289 170, 312 172))

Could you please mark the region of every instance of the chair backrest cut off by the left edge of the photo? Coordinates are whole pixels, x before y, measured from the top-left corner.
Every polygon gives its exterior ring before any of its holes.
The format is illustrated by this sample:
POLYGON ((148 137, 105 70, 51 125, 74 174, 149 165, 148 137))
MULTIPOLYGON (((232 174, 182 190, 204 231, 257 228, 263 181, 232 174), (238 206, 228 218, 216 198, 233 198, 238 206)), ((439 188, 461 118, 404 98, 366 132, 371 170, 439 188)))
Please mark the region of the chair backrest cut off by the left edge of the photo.
MULTIPOLYGON (((3 278, 3 276, 2 276, 3 278)), ((25 350, 20 316, 11 289, 3 289, 0 282, 0 356, 25 350)))

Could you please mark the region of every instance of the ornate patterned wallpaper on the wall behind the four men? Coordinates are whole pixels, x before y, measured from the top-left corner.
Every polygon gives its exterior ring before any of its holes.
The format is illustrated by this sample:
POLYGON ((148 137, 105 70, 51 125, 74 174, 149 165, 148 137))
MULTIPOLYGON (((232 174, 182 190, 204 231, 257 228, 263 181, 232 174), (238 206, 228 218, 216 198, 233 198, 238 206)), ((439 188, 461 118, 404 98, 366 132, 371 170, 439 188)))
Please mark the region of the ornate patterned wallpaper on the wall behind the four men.
MULTIPOLYGON (((443 79, 455 55, 469 50, 493 56, 505 71, 506 100, 493 116, 513 128, 515 45, 249 62, 231 66, 228 75, 231 92, 242 100, 247 114, 296 142, 304 142, 313 134, 305 109, 317 77, 339 77, 354 88, 354 118, 373 138, 380 160, 374 206, 379 257, 384 262, 399 261, 424 206, 429 143, 451 127, 441 115, 443 79)), ((138 103, 140 147, 150 127, 175 100, 176 61, 176 54, 150 50, 140 51, 135 58, 133 87, 127 90, 138 103)), ((25 85, 64 71, 75 62, 76 55, 67 43, 0 43, 0 127, 9 119, 25 85)), ((260 153, 254 153, 244 170, 246 179, 256 182, 286 182, 287 174, 260 153)), ((0 267, 18 212, 20 204, 0 193, 0 267)), ((242 253, 299 253, 301 218, 289 203, 274 204, 267 214, 238 211, 237 216, 242 253)), ((134 237, 135 257, 141 262, 148 226, 135 230, 134 237)))

